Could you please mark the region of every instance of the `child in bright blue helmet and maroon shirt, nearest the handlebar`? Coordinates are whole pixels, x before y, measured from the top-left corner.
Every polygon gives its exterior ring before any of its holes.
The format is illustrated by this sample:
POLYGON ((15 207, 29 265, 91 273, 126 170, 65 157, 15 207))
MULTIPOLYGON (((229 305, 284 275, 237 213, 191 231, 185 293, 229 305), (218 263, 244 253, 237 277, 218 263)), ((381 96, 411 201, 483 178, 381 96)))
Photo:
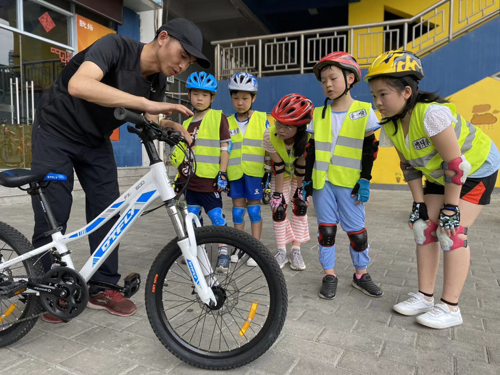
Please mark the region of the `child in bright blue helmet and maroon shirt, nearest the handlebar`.
MULTIPOLYGON (((201 220, 201 209, 213 225, 226 225, 221 192, 229 192, 227 160, 229 159, 229 125, 222 111, 211 108, 217 92, 217 81, 205 72, 192 73, 186 81, 188 97, 195 116, 182 124, 191 135, 191 148, 196 158, 196 172, 186 190, 188 211, 201 220)), ((179 170, 176 188, 186 183, 190 160, 181 148, 175 148, 171 163, 179 170)), ((229 271, 227 246, 220 244, 216 272, 229 271)))

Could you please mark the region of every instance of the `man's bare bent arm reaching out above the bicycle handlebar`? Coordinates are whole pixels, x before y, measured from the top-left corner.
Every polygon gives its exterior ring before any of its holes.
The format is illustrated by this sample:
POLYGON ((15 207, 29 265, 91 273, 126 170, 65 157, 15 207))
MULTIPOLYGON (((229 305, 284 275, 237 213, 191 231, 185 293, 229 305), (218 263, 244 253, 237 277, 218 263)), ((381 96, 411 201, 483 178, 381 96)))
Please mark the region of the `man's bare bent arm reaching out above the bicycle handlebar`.
POLYGON ((150 101, 142 96, 123 92, 102 83, 103 77, 103 71, 97 64, 86 61, 69 80, 68 92, 71 96, 103 107, 125 107, 149 114, 168 115, 176 112, 184 116, 193 116, 190 109, 184 105, 150 101))

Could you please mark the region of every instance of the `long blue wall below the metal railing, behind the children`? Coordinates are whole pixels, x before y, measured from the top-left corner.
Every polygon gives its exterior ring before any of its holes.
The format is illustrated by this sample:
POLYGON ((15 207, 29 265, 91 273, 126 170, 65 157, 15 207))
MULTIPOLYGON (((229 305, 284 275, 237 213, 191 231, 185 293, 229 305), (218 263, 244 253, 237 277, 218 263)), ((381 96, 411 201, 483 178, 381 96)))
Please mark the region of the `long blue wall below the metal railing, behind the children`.
MULTIPOLYGON (((464 36, 423 58, 425 78, 420 88, 449 96, 500 70, 500 17, 469 31, 464 36)), ((366 69, 362 70, 362 76, 366 69)), ((253 109, 271 113, 273 106, 286 94, 298 92, 308 96, 315 106, 323 105, 325 96, 314 74, 280 75, 258 79, 259 92, 253 109)), ((212 107, 233 114, 227 81, 218 82, 218 94, 212 107)), ((351 91, 353 98, 371 102, 368 85, 362 81, 351 91)))

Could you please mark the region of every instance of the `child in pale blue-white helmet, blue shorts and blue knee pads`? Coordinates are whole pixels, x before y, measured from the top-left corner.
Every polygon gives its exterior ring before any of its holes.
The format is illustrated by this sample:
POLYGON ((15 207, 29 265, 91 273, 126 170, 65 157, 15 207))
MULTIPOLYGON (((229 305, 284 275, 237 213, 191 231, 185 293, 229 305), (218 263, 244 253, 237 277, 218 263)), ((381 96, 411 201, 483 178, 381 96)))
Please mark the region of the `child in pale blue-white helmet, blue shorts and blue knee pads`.
MULTIPOLYGON (((251 222, 251 233, 260 240, 262 186, 271 172, 271 166, 264 164, 266 151, 262 148, 262 138, 270 125, 266 112, 252 109, 258 90, 257 79, 253 75, 236 73, 229 79, 228 88, 236 111, 236 114, 227 118, 232 141, 227 177, 231 181, 229 196, 233 200, 233 223, 236 229, 244 231, 246 210, 251 222)), ((271 160, 271 157, 268 159, 271 160)), ((242 257, 240 250, 235 249, 231 261, 238 263, 242 257)), ((257 264, 248 258, 247 266, 255 267, 257 264)))

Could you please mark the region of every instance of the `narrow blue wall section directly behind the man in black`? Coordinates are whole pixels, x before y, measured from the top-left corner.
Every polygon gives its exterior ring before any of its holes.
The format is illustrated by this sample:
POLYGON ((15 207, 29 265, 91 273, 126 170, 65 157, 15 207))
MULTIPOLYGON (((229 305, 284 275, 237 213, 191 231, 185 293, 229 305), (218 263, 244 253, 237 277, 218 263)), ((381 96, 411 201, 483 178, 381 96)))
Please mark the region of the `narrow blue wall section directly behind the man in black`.
MULTIPOLYGON (((139 15, 129 8, 123 8, 123 25, 118 25, 117 33, 140 40, 139 15)), ((142 145, 137 135, 127 131, 129 122, 120 127, 120 140, 112 142, 116 166, 142 166, 142 145)))

